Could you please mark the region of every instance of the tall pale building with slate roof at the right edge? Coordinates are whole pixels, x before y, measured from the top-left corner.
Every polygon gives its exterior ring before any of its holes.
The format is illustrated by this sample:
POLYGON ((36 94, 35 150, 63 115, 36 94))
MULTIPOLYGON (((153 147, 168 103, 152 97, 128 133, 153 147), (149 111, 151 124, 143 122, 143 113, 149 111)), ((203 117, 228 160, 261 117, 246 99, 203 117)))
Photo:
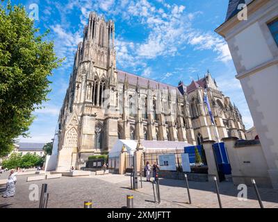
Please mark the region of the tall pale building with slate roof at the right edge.
POLYGON ((230 0, 226 21, 215 31, 229 45, 272 187, 278 189, 278 1, 230 0))

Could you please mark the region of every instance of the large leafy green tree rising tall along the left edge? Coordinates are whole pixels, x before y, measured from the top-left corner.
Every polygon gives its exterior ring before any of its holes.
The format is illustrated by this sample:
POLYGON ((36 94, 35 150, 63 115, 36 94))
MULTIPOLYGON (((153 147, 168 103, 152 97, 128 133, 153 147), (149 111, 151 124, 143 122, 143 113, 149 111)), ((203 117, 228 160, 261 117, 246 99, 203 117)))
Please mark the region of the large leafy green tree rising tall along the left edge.
POLYGON ((62 62, 43 40, 47 33, 40 35, 23 6, 0 6, 0 156, 19 135, 28 137, 32 112, 47 101, 48 77, 62 62))

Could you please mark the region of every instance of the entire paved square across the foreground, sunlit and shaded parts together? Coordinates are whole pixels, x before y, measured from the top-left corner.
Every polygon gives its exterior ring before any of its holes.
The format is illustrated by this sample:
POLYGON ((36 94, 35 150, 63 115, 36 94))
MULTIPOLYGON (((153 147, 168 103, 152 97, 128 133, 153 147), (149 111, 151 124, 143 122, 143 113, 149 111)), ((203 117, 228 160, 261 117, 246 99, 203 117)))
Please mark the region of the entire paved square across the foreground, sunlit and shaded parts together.
MULTIPOLYGON (((3 176, 0 177, 2 179, 3 176)), ((13 198, 0 197, 0 207, 38 207, 38 201, 30 201, 29 185, 48 184, 48 207, 83 207, 84 200, 92 199, 93 207, 120 208, 126 206, 126 195, 133 194, 134 206, 152 207, 219 207, 214 184, 211 182, 189 181, 192 204, 188 204, 187 190, 183 180, 160 180, 161 204, 154 203, 152 183, 143 178, 143 188, 138 191, 129 189, 130 177, 104 175, 26 182, 26 176, 17 176, 17 192, 13 198)), ((140 187, 140 182, 139 182, 140 187)), ((4 186, 0 186, 0 193, 4 186)), ((259 189, 264 207, 278 208, 278 191, 259 189)), ((240 201, 237 187, 231 182, 220 183, 220 196, 223 207, 259 207, 253 187, 247 189, 247 200, 240 201)))

